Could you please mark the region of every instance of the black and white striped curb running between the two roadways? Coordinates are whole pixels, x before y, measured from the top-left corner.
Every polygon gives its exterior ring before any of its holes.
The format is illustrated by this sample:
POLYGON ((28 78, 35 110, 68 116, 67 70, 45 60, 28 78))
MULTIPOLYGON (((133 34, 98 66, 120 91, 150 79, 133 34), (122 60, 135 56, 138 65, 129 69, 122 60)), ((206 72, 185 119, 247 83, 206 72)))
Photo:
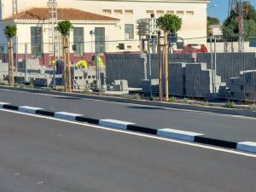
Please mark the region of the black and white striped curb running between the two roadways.
POLYGON ((170 128, 164 129, 152 129, 144 126, 137 125, 135 123, 116 120, 116 119, 91 119, 84 117, 83 114, 78 113, 68 113, 68 112, 51 112, 44 110, 43 108, 34 108, 30 106, 14 106, 7 102, 0 102, 0 108, 20 111, 23 113, 34 113, 45 116, 51 116, 58 119, 67 119, 79 122, 86 122, 89 124, 108 126, 116 129, 126 130, 126 131, 137 131, 142 133, 147 133, 150 135, 156 135, 159 137, 169 137, 175 138, 188 142, 203 143, 212 146, 218 146, 223 148, 233 148, 237 150, 247 151, 256 153, 256 143, 254 142, 230 142, 224 141, 216 138, 205 137, 204 134, 190 132, 190 131, 180 131, 170 128))

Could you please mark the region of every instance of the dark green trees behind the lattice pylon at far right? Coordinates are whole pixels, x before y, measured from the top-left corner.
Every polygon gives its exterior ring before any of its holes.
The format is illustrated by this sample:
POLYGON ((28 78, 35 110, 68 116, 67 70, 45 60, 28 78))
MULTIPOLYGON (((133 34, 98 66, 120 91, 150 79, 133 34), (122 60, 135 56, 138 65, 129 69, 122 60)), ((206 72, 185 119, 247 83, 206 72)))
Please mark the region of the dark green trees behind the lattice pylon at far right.
MULTIPOLYGON (((250 3, 245 3, 247 13, 244 15, 243 34, 245 40, 252 36, 256 36, 256 10, 250 3)), ((233 9, 230 16, 224 20, 222 27, 225 37, 237 37, 239 35, 239 10, 233 9)))

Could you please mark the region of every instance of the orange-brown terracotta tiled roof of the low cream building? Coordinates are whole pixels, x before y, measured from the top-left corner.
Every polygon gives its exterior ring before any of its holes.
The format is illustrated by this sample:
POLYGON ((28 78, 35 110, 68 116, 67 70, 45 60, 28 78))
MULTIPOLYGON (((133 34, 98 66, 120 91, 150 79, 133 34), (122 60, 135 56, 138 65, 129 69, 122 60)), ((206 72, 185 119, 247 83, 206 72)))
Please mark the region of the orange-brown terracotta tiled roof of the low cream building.
MULTIPOLYGON (((119 19, 92 14, 79 9, 59 8, 57 9, 58 20, 105 20, 118 21, 119 19)), ((20 14, 13 15, 6 20, 49 20, 48 8, 32 8, 20 14)))

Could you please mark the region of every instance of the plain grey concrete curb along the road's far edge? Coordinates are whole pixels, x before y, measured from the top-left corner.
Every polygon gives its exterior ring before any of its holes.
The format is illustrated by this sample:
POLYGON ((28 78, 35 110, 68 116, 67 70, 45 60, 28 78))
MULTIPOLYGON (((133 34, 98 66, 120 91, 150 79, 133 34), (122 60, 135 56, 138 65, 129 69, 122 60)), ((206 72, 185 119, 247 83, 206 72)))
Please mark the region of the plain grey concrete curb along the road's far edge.
MULTIPOLYGON (((1 89, 1 90, 5 90, 5 89, 1 89)), ((31 93, 31 92, 26 92, 25 90, 5 90, 5 91, 22 92, 22 93, 26 93, 26 94, 29 94, 29 95, 39 95, 39 96, 51 96, 51 97, 61 96, 61 95, 51 95, 51 94, 48 94, 48 93, 31 93)), ((108 101, 101 100, 101 99, 82 98, 82 97, 78 97, 78 96, 62 96, 62 97, 74 97, 74 98, 79 98, 79 99, 88 100, 88 101, 109 103, 108 101)), ((184 112, 192 112, 192 113, 193 112, 194 113, 207 113, 207 114, 212 114, 212 115, 216 115, 216 116, 228 116, 228 117, 232 117, 232 118, 256 120, 256 118, 254 118, 254 117, 247 117, 247 116, 235 115, 235 114, 213 113, 213 112, 189 110, 189 109, 183 109, 183 108, 165 108, 165 107, 142 105, 142 104, 136 104, 136 103, 125 103, 125 102, 114 102, 114 103, 119 104, 119 105, 132 105, 132 106, 140 106, 140 107, 145 107, 146 106, 146 107, 150 107, 150 108, 163 108, 163 109, 172 110, 172 111, 175 110, 175 111, 184 111, 184 112)))

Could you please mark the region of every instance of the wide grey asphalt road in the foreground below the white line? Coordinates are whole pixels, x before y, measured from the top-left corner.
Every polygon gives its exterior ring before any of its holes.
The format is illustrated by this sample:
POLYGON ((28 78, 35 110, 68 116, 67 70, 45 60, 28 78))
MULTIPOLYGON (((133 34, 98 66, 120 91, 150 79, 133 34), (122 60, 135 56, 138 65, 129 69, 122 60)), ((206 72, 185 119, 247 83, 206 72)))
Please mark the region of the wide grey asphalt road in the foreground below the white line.
POLYGON ((1 192, 252 192, 256 159, 0 111, 1 192))

